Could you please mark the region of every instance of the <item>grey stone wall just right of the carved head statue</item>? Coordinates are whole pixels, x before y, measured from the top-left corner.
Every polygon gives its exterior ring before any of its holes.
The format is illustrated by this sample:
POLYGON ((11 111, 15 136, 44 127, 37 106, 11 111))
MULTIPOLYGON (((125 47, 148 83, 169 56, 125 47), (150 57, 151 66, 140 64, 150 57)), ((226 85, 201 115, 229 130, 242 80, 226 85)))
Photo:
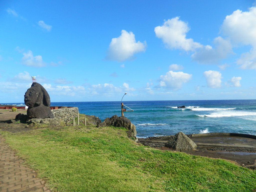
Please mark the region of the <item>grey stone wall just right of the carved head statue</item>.
POLYGON ((42 123, 49 125, 69 125, 73 122, 73 118, 77 117, 78 107, 68 107, 62 109, 52 109, 51 110, 54 118, 42 119, 42 123))

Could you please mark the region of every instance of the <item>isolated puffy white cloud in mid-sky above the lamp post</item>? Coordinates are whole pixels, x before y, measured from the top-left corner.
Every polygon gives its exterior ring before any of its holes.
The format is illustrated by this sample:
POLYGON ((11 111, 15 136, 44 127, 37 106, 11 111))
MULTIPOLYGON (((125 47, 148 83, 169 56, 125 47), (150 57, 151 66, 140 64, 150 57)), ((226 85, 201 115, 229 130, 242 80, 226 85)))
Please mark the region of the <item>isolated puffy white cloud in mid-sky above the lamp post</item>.
POLYGON ((130 31, 121 31, 121 35, 113 38, 109 45, 108 56, 110 60, 124 61, 130 59, 134 54, 143 52, 146 49, 146 42, 144 43, 135 40, 135 35, 130 31))

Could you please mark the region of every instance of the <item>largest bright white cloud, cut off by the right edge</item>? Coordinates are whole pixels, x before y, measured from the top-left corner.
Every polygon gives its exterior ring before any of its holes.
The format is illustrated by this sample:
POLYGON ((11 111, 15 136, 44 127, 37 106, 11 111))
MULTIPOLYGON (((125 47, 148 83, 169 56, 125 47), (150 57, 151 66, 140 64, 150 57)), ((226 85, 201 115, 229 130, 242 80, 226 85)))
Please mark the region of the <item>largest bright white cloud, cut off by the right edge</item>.
POLYGON ((256 69, 256 7, 248 12, 234 11, 226 16, 221 32, 228 36, 234 46, 250 45, 250 52, 243 53, 237 60, 242 69, 256 69))

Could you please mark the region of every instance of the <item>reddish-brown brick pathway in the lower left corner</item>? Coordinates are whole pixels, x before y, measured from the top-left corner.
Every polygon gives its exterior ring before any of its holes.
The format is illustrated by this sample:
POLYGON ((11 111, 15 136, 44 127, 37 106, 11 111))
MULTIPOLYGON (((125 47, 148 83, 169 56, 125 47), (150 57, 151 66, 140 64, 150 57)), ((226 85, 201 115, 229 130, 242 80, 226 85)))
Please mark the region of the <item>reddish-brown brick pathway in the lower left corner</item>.
POLYGON ((50 192, 45 181, 36 177, 36 172, 25 165, 11 150, 0 135, 0 191, 1 192, 50 192))

